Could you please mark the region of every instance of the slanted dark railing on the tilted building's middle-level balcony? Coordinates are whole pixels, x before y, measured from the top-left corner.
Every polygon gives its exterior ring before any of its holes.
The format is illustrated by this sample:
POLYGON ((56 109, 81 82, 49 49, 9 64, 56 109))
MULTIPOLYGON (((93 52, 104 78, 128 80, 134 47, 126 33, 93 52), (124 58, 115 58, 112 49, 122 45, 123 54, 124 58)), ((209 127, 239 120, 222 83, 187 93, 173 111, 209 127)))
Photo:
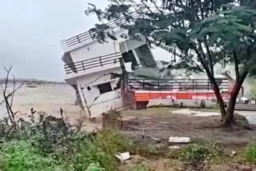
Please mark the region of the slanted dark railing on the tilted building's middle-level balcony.
POLYGON ((97 67, 107 66, 120 62, 122 58, 121 53, 107 54, 104 56, 86 59, 80 62, 74 62, 65 65, 66 74, 78 73, 86 70, 90 70, 97 67))

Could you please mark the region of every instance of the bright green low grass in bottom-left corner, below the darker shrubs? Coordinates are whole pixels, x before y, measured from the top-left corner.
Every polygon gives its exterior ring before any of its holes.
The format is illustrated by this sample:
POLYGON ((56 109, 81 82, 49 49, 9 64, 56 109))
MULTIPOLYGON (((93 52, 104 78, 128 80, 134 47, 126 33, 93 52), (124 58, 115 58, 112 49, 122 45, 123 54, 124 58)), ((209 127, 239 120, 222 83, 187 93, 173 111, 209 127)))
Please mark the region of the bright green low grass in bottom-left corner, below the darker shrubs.
POLYGON ((101 131, 96 136, 83 133, 70 136, 62 137, 69 139, 65 141, 62 139, 63 144, 46 139, 42 142, 42 137, 38 135, 30 137, 28 141, 14 139, 3 143, 0 150, 0 169, 5 171, 114 171, 118 167, 114 154, 129 150, 126 138, 114 130, 101 131), (42 149, 46 145, 52 146, 53 149, 42 149))

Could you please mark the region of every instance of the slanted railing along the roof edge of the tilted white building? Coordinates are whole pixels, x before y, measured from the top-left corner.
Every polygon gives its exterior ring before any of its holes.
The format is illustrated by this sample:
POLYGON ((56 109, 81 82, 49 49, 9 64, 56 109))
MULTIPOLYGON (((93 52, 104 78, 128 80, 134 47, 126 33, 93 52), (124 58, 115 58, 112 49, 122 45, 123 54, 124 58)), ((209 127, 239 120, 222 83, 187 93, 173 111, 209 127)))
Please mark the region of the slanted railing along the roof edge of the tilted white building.
MULTIPOLYGON (((137 13, 134 13, 134 14, 131 14, 131 18, 134 19, 138 17, 138 14, 137 13)), ((126 23, 128 23, 128 20, 126 17, 122 17, 122 18, 119 18, 118 20, 116 21, 112 21, 112 22, 109 22, 106 24, 107 26, 107 30, 104 30, 104 31, 110 31, 110 30, 113 30, 113 29, 116 29, 118 27, 122 27, 123 25, 125 25, 126 23)), ((97 35, 97 34, 100 34, 102 32, 102 30, 94 30, 94 32, 92 31, 86 31, 82 34, 78 34, 72 38, 69 38, 69 39, 66 39, 65 42, 66 42, 66 46, 68 47, 72 47, 72 46, 76 46, 78 44, 81 44, 82 42, 86 42, 87 40, 90 40, 92 38, 94 38, 92 35, 97 35)))

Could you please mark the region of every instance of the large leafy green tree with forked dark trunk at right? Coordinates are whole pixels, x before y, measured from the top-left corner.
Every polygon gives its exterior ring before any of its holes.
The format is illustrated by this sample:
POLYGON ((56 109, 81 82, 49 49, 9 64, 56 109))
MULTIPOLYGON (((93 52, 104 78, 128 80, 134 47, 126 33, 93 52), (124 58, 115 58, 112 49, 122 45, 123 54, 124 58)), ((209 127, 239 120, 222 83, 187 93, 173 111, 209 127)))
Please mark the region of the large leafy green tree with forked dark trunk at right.
MULTIPOLYGON (((131 37, 142 34, 149 43, 165 46, 178 55, 174 68, 205 72, 218 99, 222 119, 231 125, 242 83, 256 71, 255 4, 253 0, 111 0, 106 10, 90 4, 86 14, 96 14, 103 23, 124 17, 127 23, 120 27, 129 30, 131 37), (236 71, 227 109, 214 78, 214 65, 219 62, 224 66, 233 64, 236 71)), ((96 27, 102 26, 106 25, 96 27)), ((104 35, 98 37, 103 41, 110 35, 110 28, 104 29, 97 32, 104 35)))

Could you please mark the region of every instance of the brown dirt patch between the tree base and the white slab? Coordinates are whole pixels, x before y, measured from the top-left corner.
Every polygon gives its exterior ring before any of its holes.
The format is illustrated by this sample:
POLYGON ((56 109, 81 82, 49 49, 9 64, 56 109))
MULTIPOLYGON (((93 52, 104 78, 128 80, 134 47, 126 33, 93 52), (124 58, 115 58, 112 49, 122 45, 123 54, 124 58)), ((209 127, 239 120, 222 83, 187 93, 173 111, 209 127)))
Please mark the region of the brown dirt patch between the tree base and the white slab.
MULTIPOLYGON (((123 117, 129 117, 129 124, 123 131, 130 137, 142 137, 143 131, 148 137, 168 140, 170 136, 192 137, 192 141, 219 141, 223 145, 245 145, 255 139, 256 127, 250 129, 218 127, 220 117, 194 117, 193 115, 172 114, 173 109, 154 108, 122 111, 123 117), (143 131, 142 131, 143 130, 143 131)), ((209 110, 207 110, 209 111, 209 110)))

